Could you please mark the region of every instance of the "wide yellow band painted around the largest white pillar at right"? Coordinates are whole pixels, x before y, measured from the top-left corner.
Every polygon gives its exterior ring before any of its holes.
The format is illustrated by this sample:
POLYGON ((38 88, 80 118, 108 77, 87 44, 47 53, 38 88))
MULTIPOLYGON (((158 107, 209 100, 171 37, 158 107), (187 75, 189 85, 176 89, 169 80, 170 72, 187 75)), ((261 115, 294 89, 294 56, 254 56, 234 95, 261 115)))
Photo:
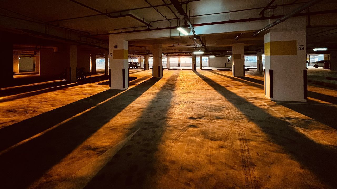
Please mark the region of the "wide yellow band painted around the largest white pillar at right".
POLYGON ((265 43, 265 55, 297 55, 297 41, 271 41, 265 43))

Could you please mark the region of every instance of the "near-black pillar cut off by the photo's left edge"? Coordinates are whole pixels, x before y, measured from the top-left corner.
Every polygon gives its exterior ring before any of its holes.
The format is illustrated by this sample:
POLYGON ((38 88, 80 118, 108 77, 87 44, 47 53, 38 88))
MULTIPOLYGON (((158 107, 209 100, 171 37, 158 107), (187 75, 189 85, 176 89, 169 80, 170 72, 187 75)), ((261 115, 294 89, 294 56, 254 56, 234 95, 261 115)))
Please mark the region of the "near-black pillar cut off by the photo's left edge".
POLYGON ((13 80, 13 44, 11 39, 2 33, 0 41, 0 88, 3 88, 13 80))

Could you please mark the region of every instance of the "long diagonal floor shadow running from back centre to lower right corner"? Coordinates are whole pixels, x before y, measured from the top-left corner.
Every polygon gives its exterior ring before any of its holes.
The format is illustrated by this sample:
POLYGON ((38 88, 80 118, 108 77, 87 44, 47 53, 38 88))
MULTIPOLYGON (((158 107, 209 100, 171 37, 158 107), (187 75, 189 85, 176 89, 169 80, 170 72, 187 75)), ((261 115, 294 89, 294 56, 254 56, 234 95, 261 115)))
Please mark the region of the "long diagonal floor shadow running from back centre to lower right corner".
MULTIPOLYGON (((337 186, 336 149, 314 142, 299 133, 296 128, 290 126, 286 121, 270 115, 212 79, 198 72, 194 73, 235 105, 250 121, 258 125, 273 143, 282 147, 286 153, 296 159, 302 166, 308 168, 330 187, 337 186)), ((255 183, 255 185, 257 184, 255 183)))

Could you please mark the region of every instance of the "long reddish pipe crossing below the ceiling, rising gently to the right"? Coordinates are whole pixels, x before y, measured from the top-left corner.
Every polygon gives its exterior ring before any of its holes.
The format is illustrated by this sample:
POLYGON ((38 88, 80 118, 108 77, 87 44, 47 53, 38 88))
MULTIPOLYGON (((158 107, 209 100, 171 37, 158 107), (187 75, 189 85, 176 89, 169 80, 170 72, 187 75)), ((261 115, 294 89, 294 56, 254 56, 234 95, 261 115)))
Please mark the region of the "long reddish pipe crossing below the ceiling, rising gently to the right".
MULTIPOLYGON (((333 10, 325 10, 325 11, 316 11, 310 12, 310 15, 317 15, 317 14, 328 14, 328 13, 337 13, 337 9, 333 10)), ((308 15, 307 12, 299 13, 295 16, 305 16, 308 15)), ((277 19, 282 17, 282 15, 278 16, 265 16, 265 17, 256 17, 256 18, 245 18, 239 20, 231 20, 231 21, 220 21, 220 22, 210 22, 210 23, 201 23, 201 24, 193 24, 194 27, 196 26, 210 26, 210 25, 217 25, 217 24, 228 24, 228 23, 239 23, 239 22, 251 22, 251 21, 260 21, 260 20, 270 20, 270 19, 277 19)), ((188 26, 182 26, 188 27, 188 26)), ((333 27, 336 27, 333 25, 333 27)), ((95 37, 95 36, 104 36, 104 35, 114 35, 114 34, 124 34, 124 33, 135 33, 135 32, 146 32, 146 31, 156 31, 156 30, 170 30, 176 29, 176 26, 173 27, 164 27, 164 28, 151 28, 151 29, 143 29, 143 30, 132 30, 132 31, 124 31, 124 32, 114 32, 114 33, 104 33, 104 34, 95 34, 95 35, 84 35, 80 37, 95 37)))

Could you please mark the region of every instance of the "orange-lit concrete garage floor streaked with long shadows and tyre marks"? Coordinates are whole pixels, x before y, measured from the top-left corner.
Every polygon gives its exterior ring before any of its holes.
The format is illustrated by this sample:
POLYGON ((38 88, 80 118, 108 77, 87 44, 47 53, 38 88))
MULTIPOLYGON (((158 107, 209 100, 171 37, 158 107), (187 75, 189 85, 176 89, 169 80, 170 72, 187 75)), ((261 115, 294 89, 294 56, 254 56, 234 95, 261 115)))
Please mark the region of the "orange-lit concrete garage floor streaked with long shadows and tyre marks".
POLYGON ((273 102, 254 70, 163 74, 1 97, 0 188, 337 187, 335 89, 273 102))

